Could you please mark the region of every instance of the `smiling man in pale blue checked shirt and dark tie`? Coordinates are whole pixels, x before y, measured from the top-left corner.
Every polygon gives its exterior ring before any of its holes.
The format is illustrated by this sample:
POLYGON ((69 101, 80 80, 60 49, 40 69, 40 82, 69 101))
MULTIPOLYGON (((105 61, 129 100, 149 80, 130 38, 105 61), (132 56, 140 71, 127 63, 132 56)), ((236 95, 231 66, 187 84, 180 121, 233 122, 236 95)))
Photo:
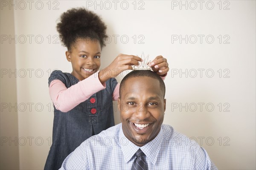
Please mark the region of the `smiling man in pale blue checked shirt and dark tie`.
POLYGON ((203 148, 184 142, 186 136, 162 125, 164 96, 164 82, 153 71, 127 74, 119 90, 122 123, 84 141, 61 169, 217 169, 203 148))

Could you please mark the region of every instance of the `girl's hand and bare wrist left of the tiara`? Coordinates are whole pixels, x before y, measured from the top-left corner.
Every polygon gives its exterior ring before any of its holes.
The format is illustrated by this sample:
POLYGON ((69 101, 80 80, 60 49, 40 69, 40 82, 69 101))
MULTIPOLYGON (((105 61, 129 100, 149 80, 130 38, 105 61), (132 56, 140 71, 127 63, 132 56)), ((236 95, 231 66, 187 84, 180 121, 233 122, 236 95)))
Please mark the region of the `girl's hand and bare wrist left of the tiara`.
POLYGON ((132 70, 132 65, 138 65, 139 61, 142 61, 142 59, 138 56, 119 54, 108 67, 99 71, 99 81, 103 83, 116 77, 122 71, 132 70))

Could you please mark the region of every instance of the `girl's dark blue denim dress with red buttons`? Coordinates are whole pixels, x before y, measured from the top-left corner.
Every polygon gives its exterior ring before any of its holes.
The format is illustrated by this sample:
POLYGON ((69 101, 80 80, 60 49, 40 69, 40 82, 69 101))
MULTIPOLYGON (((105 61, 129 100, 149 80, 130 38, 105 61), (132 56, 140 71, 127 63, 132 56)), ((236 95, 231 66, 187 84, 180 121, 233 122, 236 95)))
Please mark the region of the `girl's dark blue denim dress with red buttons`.
MULTIPOLYGON (((49 84, 55 79, 61 80, 67 88, 79 82, 72 74, 62 71, 53 71, 49 84)), ((108 79, 104 90, 66 113, 54 107, 52 146, 45 170, 59 169, 64 159, 84 140, 114 126, 112 95, 116 85, 116 79, 108 79)))

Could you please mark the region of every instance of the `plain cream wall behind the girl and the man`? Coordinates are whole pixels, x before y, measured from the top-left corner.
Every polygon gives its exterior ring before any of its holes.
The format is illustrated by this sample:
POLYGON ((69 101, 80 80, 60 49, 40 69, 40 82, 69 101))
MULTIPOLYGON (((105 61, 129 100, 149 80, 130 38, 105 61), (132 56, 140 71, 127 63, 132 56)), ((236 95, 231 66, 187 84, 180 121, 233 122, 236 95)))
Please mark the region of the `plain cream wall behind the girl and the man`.
MULTIPOLYGON (((44 168, 53 123, 48 78, 54 69, 72 71, 55 26, 72 7, 108 26, 101 68, 120 53, 167 58, 164 123, 196 140, 219 169, 256 169, 254 0, 1 0, 1 169, 44 168)), ((116 102, 114 110, 118 124, 116 102)))

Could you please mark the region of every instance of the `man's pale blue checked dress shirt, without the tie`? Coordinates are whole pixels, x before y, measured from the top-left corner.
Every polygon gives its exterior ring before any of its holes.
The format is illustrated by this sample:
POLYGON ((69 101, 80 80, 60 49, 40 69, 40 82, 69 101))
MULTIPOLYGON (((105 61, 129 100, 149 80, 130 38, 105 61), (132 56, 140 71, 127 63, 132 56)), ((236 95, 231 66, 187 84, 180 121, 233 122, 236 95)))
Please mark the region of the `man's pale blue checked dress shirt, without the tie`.
POLYGON ((139 148, 149 170, 217 170, 204 148, 170 125, 162 125, 153 140, 138 147, 125 137, 122 123, 84 141, 60 170, 131 170, 139 148))

